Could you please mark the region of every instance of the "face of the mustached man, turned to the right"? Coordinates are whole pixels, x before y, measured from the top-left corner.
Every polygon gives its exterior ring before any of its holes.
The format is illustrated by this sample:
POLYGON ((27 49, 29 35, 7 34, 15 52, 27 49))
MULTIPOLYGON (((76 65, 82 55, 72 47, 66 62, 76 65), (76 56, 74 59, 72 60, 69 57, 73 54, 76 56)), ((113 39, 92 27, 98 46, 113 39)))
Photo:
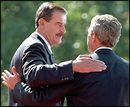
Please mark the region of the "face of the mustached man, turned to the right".
POLYGON ((54 11, 52 19, 45 24, 45 33, 51 45, 60 44, 66 25, 66 15, 61 11, 54 11))

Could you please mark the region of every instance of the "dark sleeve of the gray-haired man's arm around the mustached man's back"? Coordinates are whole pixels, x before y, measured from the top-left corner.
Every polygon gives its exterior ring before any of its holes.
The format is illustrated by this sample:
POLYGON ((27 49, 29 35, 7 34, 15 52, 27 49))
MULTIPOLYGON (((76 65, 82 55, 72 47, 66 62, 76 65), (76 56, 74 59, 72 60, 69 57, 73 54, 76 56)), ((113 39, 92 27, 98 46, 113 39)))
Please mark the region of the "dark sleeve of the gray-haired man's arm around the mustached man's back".
POLYGON ((13 91, 14 101, 27 106, 53 106, 64 99, 72 88, 72 82, 50 87, 31 88, 18 82, 13 91))

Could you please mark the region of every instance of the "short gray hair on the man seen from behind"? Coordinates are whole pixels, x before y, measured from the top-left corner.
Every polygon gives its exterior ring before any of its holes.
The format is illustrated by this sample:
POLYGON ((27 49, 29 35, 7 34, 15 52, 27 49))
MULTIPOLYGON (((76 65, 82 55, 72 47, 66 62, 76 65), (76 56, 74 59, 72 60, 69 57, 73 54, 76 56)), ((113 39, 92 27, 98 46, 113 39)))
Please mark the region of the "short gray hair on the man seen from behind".
POLYGON ((96 33, 102 45, 114 47, 121 36, 121 24, 110 14, 96 15, 91 20, 89 31, 96 33))

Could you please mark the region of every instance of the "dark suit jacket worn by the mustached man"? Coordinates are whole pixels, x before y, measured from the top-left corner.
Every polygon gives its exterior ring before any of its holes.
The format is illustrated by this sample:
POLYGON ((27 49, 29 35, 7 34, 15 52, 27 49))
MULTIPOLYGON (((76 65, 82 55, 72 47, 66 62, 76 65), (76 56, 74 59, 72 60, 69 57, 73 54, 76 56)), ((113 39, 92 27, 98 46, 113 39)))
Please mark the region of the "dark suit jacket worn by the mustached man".
MULTIPOLYGON (((41 89, 47 88, 52 84, 73 80, 72 61, 55 64, 53 53, 50 53, 44 40, 35 33, 23 41, 16 50, 11 61, 10 72, 12 66, 16 67, 22 82, 33 89, 40 86, 41 89)), ((9 89, 9 106, 21 105, 14 101, 13 94, 17 95, 17 92, 9 89)))

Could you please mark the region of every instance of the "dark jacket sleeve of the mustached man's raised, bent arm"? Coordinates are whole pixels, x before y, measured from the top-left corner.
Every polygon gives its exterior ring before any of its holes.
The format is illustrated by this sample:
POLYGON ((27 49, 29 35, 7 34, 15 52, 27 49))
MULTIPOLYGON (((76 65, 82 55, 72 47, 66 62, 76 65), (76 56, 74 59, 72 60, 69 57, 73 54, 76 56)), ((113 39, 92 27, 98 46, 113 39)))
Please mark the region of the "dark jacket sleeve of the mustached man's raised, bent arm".
POLYGON ((61 84, 73 79, 72 61, 47 64, 44 46, 34 44, 23 54, 22 68, 26 83, 31 87, 61 84))

